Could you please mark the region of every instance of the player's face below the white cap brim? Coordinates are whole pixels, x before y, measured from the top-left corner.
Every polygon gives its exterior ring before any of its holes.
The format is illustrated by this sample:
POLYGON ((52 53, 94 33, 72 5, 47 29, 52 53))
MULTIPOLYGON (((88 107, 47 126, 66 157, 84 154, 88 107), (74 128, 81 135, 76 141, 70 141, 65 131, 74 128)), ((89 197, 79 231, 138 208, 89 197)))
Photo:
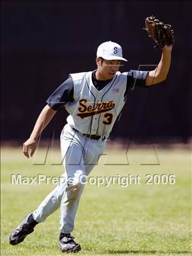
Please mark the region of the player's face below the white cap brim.
POLYGON ((97 77, 100 80, 112 79, 120 67, 120 60, 96 60, 97 77))

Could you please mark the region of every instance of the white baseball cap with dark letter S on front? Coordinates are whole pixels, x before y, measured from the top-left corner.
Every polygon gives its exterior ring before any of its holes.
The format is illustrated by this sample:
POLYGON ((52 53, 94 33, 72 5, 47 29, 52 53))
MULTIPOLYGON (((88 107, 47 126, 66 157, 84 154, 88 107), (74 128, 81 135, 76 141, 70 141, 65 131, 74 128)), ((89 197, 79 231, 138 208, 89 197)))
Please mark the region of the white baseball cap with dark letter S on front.
POLYGON ((122 47, 115 42, 104 42, 97 48, 97 57, 102 57, 104 60, 124 60, 122 47))

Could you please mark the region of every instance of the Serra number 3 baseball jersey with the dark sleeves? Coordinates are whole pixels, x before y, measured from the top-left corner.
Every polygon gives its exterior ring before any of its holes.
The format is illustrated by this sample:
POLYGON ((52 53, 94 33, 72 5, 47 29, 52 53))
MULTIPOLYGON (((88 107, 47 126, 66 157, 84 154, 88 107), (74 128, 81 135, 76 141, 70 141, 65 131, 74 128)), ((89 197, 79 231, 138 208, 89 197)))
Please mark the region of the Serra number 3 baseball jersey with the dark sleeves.
POLYGON ((108 137, 125 104, 127 90, 132 86, 145 87, 147 74, 138 70, 116 72, 100 90, 92 71, 70 74, 65 86, 61 84, 47 103, 55 110, 65 106, 70 114, 67 122, 77 131, 108 137))

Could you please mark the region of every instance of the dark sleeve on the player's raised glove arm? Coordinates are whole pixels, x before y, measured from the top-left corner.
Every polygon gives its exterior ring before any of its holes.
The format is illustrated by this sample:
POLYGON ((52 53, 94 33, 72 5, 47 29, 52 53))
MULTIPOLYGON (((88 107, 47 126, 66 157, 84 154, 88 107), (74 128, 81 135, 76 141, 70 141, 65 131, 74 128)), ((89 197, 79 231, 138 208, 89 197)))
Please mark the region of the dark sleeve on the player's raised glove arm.
POLYGON ((125 94, 129 89, 133 90, 136 87, 149 88, 150 86, 145 85, 148 72, 149 71, 130 70, 124 73, 127 74, 127 88, 125 94))

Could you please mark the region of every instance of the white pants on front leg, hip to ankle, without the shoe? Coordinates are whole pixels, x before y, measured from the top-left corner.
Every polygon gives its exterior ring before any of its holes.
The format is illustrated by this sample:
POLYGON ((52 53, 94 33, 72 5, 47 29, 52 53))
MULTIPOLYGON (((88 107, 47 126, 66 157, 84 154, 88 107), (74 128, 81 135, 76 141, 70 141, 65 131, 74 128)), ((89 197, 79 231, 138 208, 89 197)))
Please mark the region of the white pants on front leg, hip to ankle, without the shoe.
POLYGON ((86 136, 74 133, 70 127, 61 136, 61 152, 65 152, 65 154, 62 154, 63 164, 68 178, 68 185, 61 200, 61 233, 68 234, 74 229, 74 219, 84 188, 84 176, 88 175, 95 164, 98 163, 105 145, 106 141, 90 140, 86 136), (66 152, 65 144, 69 134, 73 136, 73 140, 66 152))

